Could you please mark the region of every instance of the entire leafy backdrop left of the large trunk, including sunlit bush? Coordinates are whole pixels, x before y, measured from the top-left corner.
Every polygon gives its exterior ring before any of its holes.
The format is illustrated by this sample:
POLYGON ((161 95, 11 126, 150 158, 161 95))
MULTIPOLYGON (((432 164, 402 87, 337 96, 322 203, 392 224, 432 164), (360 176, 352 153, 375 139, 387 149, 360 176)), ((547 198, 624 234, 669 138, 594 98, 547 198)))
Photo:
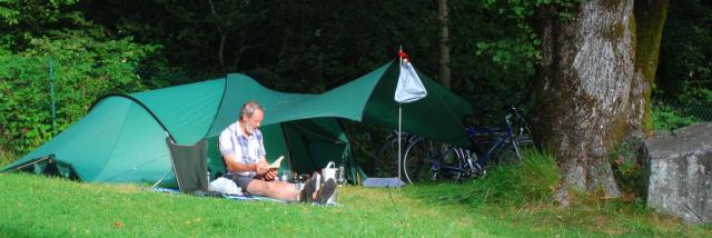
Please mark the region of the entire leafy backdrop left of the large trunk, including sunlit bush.
MULTIPOLYGON (((518 101, 540 58, 535 10, 554 4, 566 17, 572 2, 451 1, 453 90, 491 111, 518 101)), ((436 11, 421 0, 6 1, 0 87, 12 93, 0 99, 0 146, 23 153, 51 137, 50 58, 61 131, 105 93, 231 71, 281 91, 323 92, 403 47, 434 76, 436 11)))

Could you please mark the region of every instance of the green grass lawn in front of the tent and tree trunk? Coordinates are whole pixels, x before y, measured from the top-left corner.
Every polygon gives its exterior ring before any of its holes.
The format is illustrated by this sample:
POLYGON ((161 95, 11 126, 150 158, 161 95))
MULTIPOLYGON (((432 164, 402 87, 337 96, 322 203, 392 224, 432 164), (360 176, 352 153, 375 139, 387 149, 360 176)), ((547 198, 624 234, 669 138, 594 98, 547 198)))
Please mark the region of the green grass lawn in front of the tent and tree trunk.
MULTIPOLYGON (((168 195, 136 185, 0 173, 0 237, 711 237, 712 228, 636 202, 576 195, 548 202, 560 179, 547 155, 484 179, 402 190, 345 187, 342 207, 168 195)), ((554 165, 555 166, 555 165, 554 165)))

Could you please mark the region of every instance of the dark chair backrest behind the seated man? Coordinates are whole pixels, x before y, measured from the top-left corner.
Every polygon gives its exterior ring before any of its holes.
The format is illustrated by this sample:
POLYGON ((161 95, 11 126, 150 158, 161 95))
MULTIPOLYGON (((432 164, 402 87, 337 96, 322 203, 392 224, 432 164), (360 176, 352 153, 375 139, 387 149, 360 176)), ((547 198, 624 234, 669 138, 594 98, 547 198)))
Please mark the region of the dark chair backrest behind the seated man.
POLYGON ((166 143, 170 150, 170 163, 176 173, 178 189, 182 192, 207 191, 208 142, 202 139, 196 145, 177 145, 170 137, 167 137, 166 143))

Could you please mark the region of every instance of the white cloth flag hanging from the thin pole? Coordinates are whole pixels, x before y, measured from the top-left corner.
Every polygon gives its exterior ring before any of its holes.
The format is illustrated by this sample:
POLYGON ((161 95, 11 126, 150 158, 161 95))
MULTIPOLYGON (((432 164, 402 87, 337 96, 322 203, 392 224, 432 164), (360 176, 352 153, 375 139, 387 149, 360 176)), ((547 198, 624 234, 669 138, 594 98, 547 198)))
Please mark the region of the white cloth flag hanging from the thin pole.
POLYGON ((408 56, 402 50, 398 51, 398 56, 400 57, 400 75, 396 86, 395 100, 399 103, 405 103, 425 98, 427 91, 421 81, 421 77, 415 72, 415 68, 408 61, 408 56))

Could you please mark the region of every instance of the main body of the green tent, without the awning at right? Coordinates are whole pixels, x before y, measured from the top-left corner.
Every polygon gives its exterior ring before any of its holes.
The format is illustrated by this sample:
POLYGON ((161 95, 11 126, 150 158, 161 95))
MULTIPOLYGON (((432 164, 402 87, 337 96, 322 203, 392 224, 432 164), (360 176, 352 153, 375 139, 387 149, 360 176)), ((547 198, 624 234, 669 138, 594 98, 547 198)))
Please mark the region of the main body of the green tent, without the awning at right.
MULTIPOLYGON (((56 172, 83 181, 152 182, 171 171, 165 139, 171 137, 180 145, 207 139, 208 166, 215 176, 224 170, 216 137, 237 119, 243 102, 258 100, 269 116, 270 111, 308 97, 313 96, 266 89, 244 75, 128 96, 111 95, 98 100, 87 116, 62 133, 4 170, 56 172)), ((283 163, 283 169, 307 172, 325 166, 327 159, 346 159, 348 141, 334 118, 265 123, 261 130, 268 158, 285 155, 290 161, 283 163), (289 138, 297 139, 288 143, 289 138), (300 149, 289 150, 289 146, 300 149), (314 148, 301 149, 309 146, 322 150, 312 156, 314 148), (293 157, 308 158, 308 163, 296 165, 293 157)))

